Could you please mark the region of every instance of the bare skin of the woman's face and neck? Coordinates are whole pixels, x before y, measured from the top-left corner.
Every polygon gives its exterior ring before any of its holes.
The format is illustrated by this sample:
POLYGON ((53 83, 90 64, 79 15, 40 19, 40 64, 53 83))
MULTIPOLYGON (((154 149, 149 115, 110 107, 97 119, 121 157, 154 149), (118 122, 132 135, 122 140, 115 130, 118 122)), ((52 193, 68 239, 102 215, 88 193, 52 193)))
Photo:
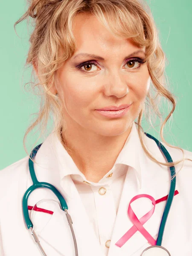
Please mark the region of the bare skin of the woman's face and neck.
POLYGON ((150 87, 147 63, 128 63, 131 58, 144 58, 137 53, 125 60, 129 54, 143 50, 131 39, 113 36, 93 15, 75 17, 73 33, 77 49, 58 70, 58 93, 66 122, 64 138, 73 148, 74 163, 86 179, 98 182, 113 167, 125 141, 132 122, 137 118, 150 87), (98 58, 78 56, 79 53, 99 55, 98 58), (76 65, 92 61, 94 64, 76 68, 76 65), (90 66, 89 66, 90 65, 90 66), (138 68, 137 68, 138 67, 138 68), (120 118, 108 118, 96 109, 109 105, 132 104, 120 118))

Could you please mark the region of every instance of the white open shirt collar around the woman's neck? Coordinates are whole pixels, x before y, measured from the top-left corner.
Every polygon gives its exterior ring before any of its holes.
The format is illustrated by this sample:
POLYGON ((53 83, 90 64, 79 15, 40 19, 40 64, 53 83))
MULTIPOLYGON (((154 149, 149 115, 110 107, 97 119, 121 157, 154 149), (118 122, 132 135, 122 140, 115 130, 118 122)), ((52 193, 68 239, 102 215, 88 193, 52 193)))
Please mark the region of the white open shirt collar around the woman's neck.
MULTIPOLYGON (((52 141, 53 151, 55 152, 56 161, 58 164, 58 171, 60 175, 60 179, 63 180, 67 175, 84 175, 79 171, 76 164, 73 162, 72 157, 68 154, 67 150, 61 144, 57 135, 53 132, 49 134, 47 140, 52 141)), ((139 134, 136 128, 135 122, 132 123, 131 132, 119 153, 119 156, 114 163, 113 169, 111 169, 101 180, 105 180, 105 178, 112 172, 112 170, 116 171, 116 167, 119 164, 124 164, 127 166, 131 166, 134 168, 135 173, 137 175, 137 179, 139 181, 141 187, 141 167, 140 167, 140 152, 142 145, 140 143, 139 134)), ((120 169, 119 169, 120 170, 120 169)), ((86 181, 86 178, 84 177, 86 181)), ((92 183, 94 185, 94 183, 92 183)), ((98 183, 95 183, 98 184, 98 183)))

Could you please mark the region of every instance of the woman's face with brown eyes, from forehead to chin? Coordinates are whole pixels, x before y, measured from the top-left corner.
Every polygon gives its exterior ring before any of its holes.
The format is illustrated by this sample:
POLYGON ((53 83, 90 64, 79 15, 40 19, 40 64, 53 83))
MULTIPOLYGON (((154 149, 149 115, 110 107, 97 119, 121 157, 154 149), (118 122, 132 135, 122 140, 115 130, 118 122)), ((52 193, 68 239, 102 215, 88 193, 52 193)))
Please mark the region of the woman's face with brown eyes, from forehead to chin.
POLYGON ((150 85, 147 63, 138 62, 145 53, 128 55, 138 50, 145 52, 145 49, 136 47, 131 39, 114 37, 92 15, 76 16, 73 33, 77 49, 58 70, 56 89, 63 106, 66 131, 87 136, 125 133, 140 113, 150 85), (122 117, 109 118, 96 111, 122 104, 131 104, 122 117))

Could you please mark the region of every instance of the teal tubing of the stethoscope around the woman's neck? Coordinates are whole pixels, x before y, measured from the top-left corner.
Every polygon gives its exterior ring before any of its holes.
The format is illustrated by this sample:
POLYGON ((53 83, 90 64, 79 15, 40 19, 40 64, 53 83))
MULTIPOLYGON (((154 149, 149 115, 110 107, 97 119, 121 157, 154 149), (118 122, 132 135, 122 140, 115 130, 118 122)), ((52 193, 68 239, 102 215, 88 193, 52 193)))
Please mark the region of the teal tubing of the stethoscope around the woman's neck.
MULTIPOLYGON (((162 153, 166 157, 167 162, 168 163, 173 163, 172 157, 170 156, 170 154, 166 150, 166 148, 162 145, 162 143, 160 143, 160 141, 158 141, 156 138, 154 138, 150 134, 145 133, 145 135, 156 142, 158 148, 162 151, 162 153)), ((38 146, 36 146, 32 150, 32 152, 30 154, 30 157, 32 159, 35 158, 35 155, 37 154, 37 151, 41 147, 42 144, 43 143, 39 144, 38 146)), ((167 201, 166 201, 166 206, 165 206, 164 211, 163 211, 163 216, 162 216, 162 219, 161 219, 159 233, 158 233, 158 237, 157 237, 156 245, 158 245, 158 246, 161 246, 161 243, 162 243, 163 233, 164 233, 164 230, 165 230, 166 221, 167 221, 167 218, 168 218, 168 215, 169 215, 169 210, 171 208, 172 201, 173 201, 173 198, 174 198, 174 193, 175 193, 175 186, 176 186, 175 166, 170 166, 169 169, 170 169, 170 173, 171 173, 171 184, 170 184, 169 195, 168 195, 168 198, 167 198, 167 201)), ((26 190, 26 192, 25 192, 25 194, 23 196, 23 202, 22 202, 22 205, 23 205, 23 216, 24 216, 24 220, 25 220, 25 223, 26 223, 26 227, 28 229, 33 227, 33 224, 32 224, 32 222, 31 222, 31 220, 29 218, 29 211, 28 211, 28 204, 27 204, 27 202, 28 202, 29 195, 35 189, 47 188, 47 189, 52 190, 52 192, 57 196, 58 200, 60 201, 61 209, 63 211, 64 211, 64 209, 68 210, 68 206, 67 206, 67 203, 66 203, 65 199, 63 198, 61 193, 58 191, 58 189, 55 188, 55 186, 53 186, 53 185, 51 185, 50 183, 47 183, 47 182, 39 182, 38 181, 38 179, 37 179, 37 177, 35 175, 34 163, 33 163, 33 161, 30 158, 29 158, 29 172, 30 172, 30 175, 31 175, 31 178, 32 178, 33 185, 30 186, 26 190)))

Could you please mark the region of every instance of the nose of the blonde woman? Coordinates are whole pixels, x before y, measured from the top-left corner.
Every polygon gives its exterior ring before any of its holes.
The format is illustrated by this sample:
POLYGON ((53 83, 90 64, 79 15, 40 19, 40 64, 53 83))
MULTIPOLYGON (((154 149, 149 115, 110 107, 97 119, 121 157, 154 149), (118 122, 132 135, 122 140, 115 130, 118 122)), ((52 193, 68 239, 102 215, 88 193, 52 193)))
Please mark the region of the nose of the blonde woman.
POLYGON ((122 98, 129 92, 128 83, 125 75, 109 74, 107 81, 104 85, 106 96, 116 96, 122 98))

